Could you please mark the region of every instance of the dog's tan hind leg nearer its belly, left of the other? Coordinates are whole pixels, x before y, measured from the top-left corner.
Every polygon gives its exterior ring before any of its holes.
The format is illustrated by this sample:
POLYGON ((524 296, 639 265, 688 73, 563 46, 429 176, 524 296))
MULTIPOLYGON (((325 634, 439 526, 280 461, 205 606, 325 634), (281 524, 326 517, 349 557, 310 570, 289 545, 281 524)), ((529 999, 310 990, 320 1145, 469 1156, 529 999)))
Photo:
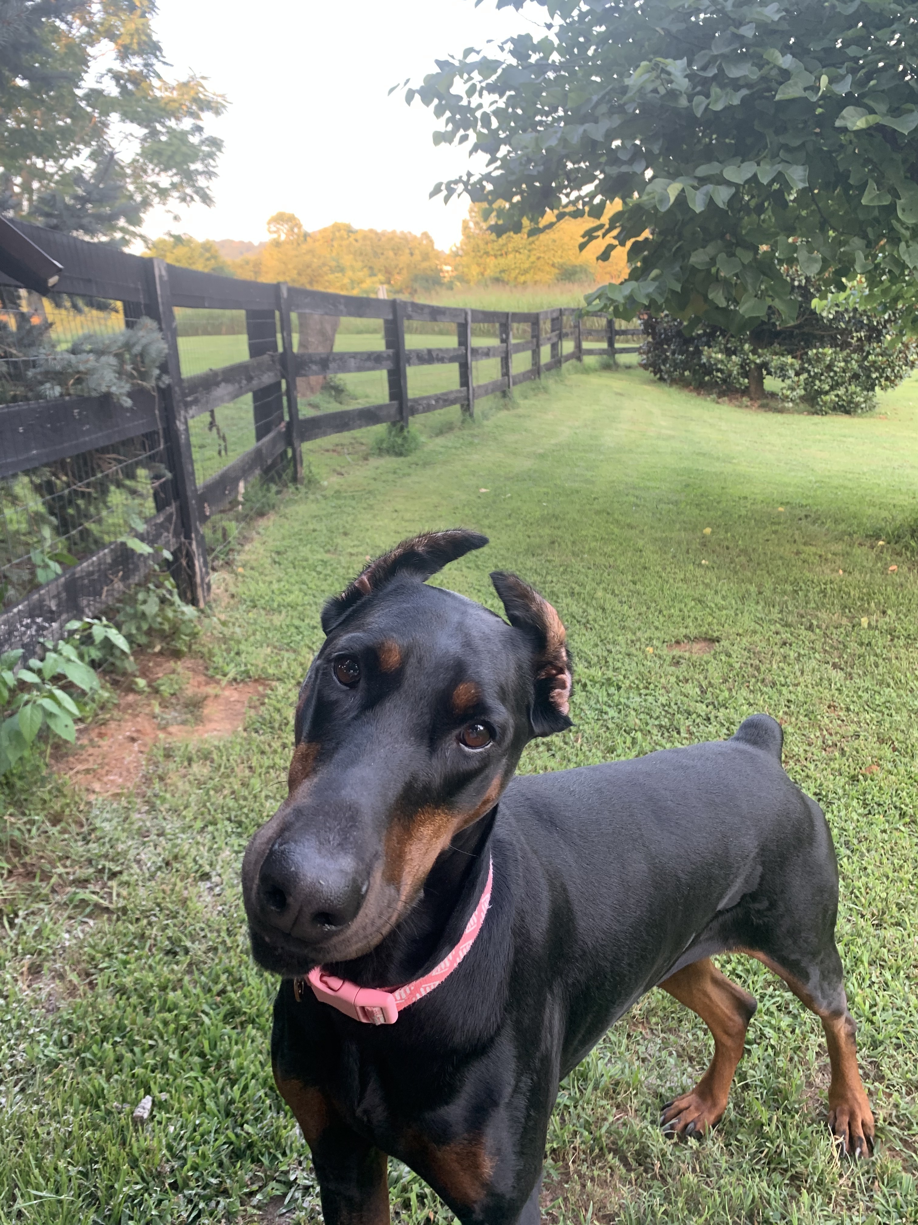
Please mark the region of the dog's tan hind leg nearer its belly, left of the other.
POLYGON ((692 1093, 668 1101, 660 1116, 665 1132, 700 1137, 727 1109, 730 1087, 743 1055, 755 1000, 725 978, 710 957, 677 970, 660 986, 698 1013, 714 1035, 711 1066, 692 1093))

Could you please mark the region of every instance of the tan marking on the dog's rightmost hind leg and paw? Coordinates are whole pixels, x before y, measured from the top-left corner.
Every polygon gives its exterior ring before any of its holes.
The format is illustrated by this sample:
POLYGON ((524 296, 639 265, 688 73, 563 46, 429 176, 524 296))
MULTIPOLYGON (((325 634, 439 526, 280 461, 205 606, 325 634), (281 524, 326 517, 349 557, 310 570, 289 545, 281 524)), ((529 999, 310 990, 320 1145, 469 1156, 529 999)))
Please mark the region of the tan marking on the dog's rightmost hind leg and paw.
POLYGON ((829 1065, 832 1069, 829 1084, 829 1129, 841 1144, 842 1153, 851 1153, 856 1158, 869 1156, 874 1150, 874 1116, 858 1069, 854 1018, 847 1009, 836 1013, 821 1009, 799 979, 764 953, 754 953, 748 948, 739 952, 767 965, 771 973, 777 974, 793 991, 800 1003, 823 1022, 823 1033, 829 1047, 829 1065))

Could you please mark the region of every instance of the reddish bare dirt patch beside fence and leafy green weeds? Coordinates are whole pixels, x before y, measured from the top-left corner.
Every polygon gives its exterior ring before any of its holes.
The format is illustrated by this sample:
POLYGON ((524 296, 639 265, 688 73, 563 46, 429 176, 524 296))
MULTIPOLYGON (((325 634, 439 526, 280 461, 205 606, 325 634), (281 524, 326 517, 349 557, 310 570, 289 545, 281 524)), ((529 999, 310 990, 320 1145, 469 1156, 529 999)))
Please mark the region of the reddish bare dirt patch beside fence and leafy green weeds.
POLYGON ((266 687, 261 681, 222 685, 204 674, 200 659, 135 658, 147 691, 121 692, 104 723, 77 728, 76 747, 53 755, 54 769, 93 795, 136 786, 147 753, 163 740, 237 731, 266 687))

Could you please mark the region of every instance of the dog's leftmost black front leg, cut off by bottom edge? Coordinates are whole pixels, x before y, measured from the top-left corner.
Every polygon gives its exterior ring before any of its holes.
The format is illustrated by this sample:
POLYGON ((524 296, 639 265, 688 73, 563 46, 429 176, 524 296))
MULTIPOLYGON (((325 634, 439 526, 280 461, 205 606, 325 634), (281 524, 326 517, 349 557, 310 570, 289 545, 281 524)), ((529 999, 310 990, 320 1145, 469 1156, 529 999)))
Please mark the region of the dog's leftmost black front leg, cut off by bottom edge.
POLYGON ((386 1154, 357 1136, 321 1089, 285 1079, 277 1067, 274 1079, 310 1145, 326 1225, 389 1225, 386 1154))

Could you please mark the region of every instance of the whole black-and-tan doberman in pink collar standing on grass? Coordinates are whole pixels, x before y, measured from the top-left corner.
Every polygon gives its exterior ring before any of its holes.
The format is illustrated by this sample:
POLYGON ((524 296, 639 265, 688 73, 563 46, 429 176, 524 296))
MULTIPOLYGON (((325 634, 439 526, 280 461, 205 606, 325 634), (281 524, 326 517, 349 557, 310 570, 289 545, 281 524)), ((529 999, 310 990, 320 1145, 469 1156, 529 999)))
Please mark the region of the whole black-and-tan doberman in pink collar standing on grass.
POLYGON ((328 600, 289 796, 245 856, 252 949, 283 978, 274 1076, 327 1225, 388 1221, 387 1154, 463 1223, 537 1221, 558 1083, 655 986, 714 1034, 662 1114, 703 1134, 755 1011, 723 951, 820 1017, 829 1125, 867 1154, 835 851, 781 728, 759 714, 727 741, 513 778, 528 741, 570 726, 570 655, 514 575, 491 576, 509 625, 425 583, 486 543, 406 540, 328 600))

